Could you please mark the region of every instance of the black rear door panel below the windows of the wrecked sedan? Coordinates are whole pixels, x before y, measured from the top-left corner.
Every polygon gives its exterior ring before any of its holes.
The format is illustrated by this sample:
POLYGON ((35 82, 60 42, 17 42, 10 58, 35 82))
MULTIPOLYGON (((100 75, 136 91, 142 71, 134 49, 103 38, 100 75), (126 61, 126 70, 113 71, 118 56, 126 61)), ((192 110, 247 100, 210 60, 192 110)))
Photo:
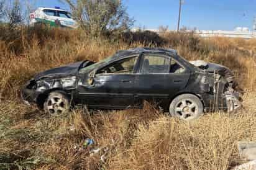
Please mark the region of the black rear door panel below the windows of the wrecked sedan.
POLYGON ((135 104, 143 101, 170 102, 177 92, 185 89, 190 74, 137 74, 135 78, 135 104))

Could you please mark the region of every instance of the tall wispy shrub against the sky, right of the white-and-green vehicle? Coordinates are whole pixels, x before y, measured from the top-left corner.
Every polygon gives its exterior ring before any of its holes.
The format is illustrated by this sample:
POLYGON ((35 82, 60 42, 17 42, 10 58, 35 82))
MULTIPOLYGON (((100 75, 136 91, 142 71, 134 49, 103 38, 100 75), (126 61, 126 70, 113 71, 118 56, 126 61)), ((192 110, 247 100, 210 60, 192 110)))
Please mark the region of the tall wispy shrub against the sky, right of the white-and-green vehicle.
POLYGON ((133 24, 121 0, 65 0, 80 27, 93 37, 120 34, 133 24))

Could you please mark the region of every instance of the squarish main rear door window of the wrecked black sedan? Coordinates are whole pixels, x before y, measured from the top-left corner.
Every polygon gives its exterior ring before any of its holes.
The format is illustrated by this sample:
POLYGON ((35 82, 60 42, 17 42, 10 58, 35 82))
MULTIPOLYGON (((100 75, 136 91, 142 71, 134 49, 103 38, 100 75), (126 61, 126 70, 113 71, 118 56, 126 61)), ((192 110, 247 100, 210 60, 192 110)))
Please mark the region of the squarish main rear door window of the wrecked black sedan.
POLYGON ((144 55, 140 73, 169 73, 170 58, 159 55, 144 55))

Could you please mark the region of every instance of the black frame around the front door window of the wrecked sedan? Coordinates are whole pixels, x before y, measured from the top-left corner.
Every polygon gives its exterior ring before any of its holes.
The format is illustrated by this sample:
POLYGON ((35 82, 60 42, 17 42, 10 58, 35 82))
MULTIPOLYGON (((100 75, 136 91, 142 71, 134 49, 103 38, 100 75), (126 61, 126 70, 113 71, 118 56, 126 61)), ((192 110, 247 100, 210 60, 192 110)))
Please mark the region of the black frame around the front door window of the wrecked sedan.
POLYGON ((126 56, 124 58, 119 58, 119 59, 116 59, 116 60, 113 60, 111 61, 111 63, 107 63, 107 65, 104 65, 104 66, 101 66, 99 68, 96 69, 96 74, 95 75, 98 75, 98 76, 109 76, 109 75, 133 75, 133 74, 136 74, 137 71, 138 71, 138 68, 139 68, 139 63, 140 63, 140 55, 131 55, 131 56, 126 56), (106 68, 107 66, 110 66, 112 65, 113 63, 115 62, 118 62, 118 61, 121 61, 121 60, 126 60, 127 58, 134 58, 134 57, 137 57, 137 61, 135 62, 135 65, 134 65, 134 69, 132 71, 132 73, 121 73, 121 74, 115 74, 115 73, 97 73, 100 69, 103 69, 103 68, 106 68))

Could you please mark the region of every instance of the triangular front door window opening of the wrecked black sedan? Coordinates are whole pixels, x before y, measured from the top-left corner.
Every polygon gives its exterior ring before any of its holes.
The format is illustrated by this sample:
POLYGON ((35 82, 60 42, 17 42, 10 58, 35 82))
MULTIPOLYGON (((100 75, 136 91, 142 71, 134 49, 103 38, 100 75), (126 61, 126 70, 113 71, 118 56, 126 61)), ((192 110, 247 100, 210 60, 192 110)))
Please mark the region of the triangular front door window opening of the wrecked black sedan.
POLYGON ((116 61, 97 71, 98 74, 132 74, 138 57, 116 61))

